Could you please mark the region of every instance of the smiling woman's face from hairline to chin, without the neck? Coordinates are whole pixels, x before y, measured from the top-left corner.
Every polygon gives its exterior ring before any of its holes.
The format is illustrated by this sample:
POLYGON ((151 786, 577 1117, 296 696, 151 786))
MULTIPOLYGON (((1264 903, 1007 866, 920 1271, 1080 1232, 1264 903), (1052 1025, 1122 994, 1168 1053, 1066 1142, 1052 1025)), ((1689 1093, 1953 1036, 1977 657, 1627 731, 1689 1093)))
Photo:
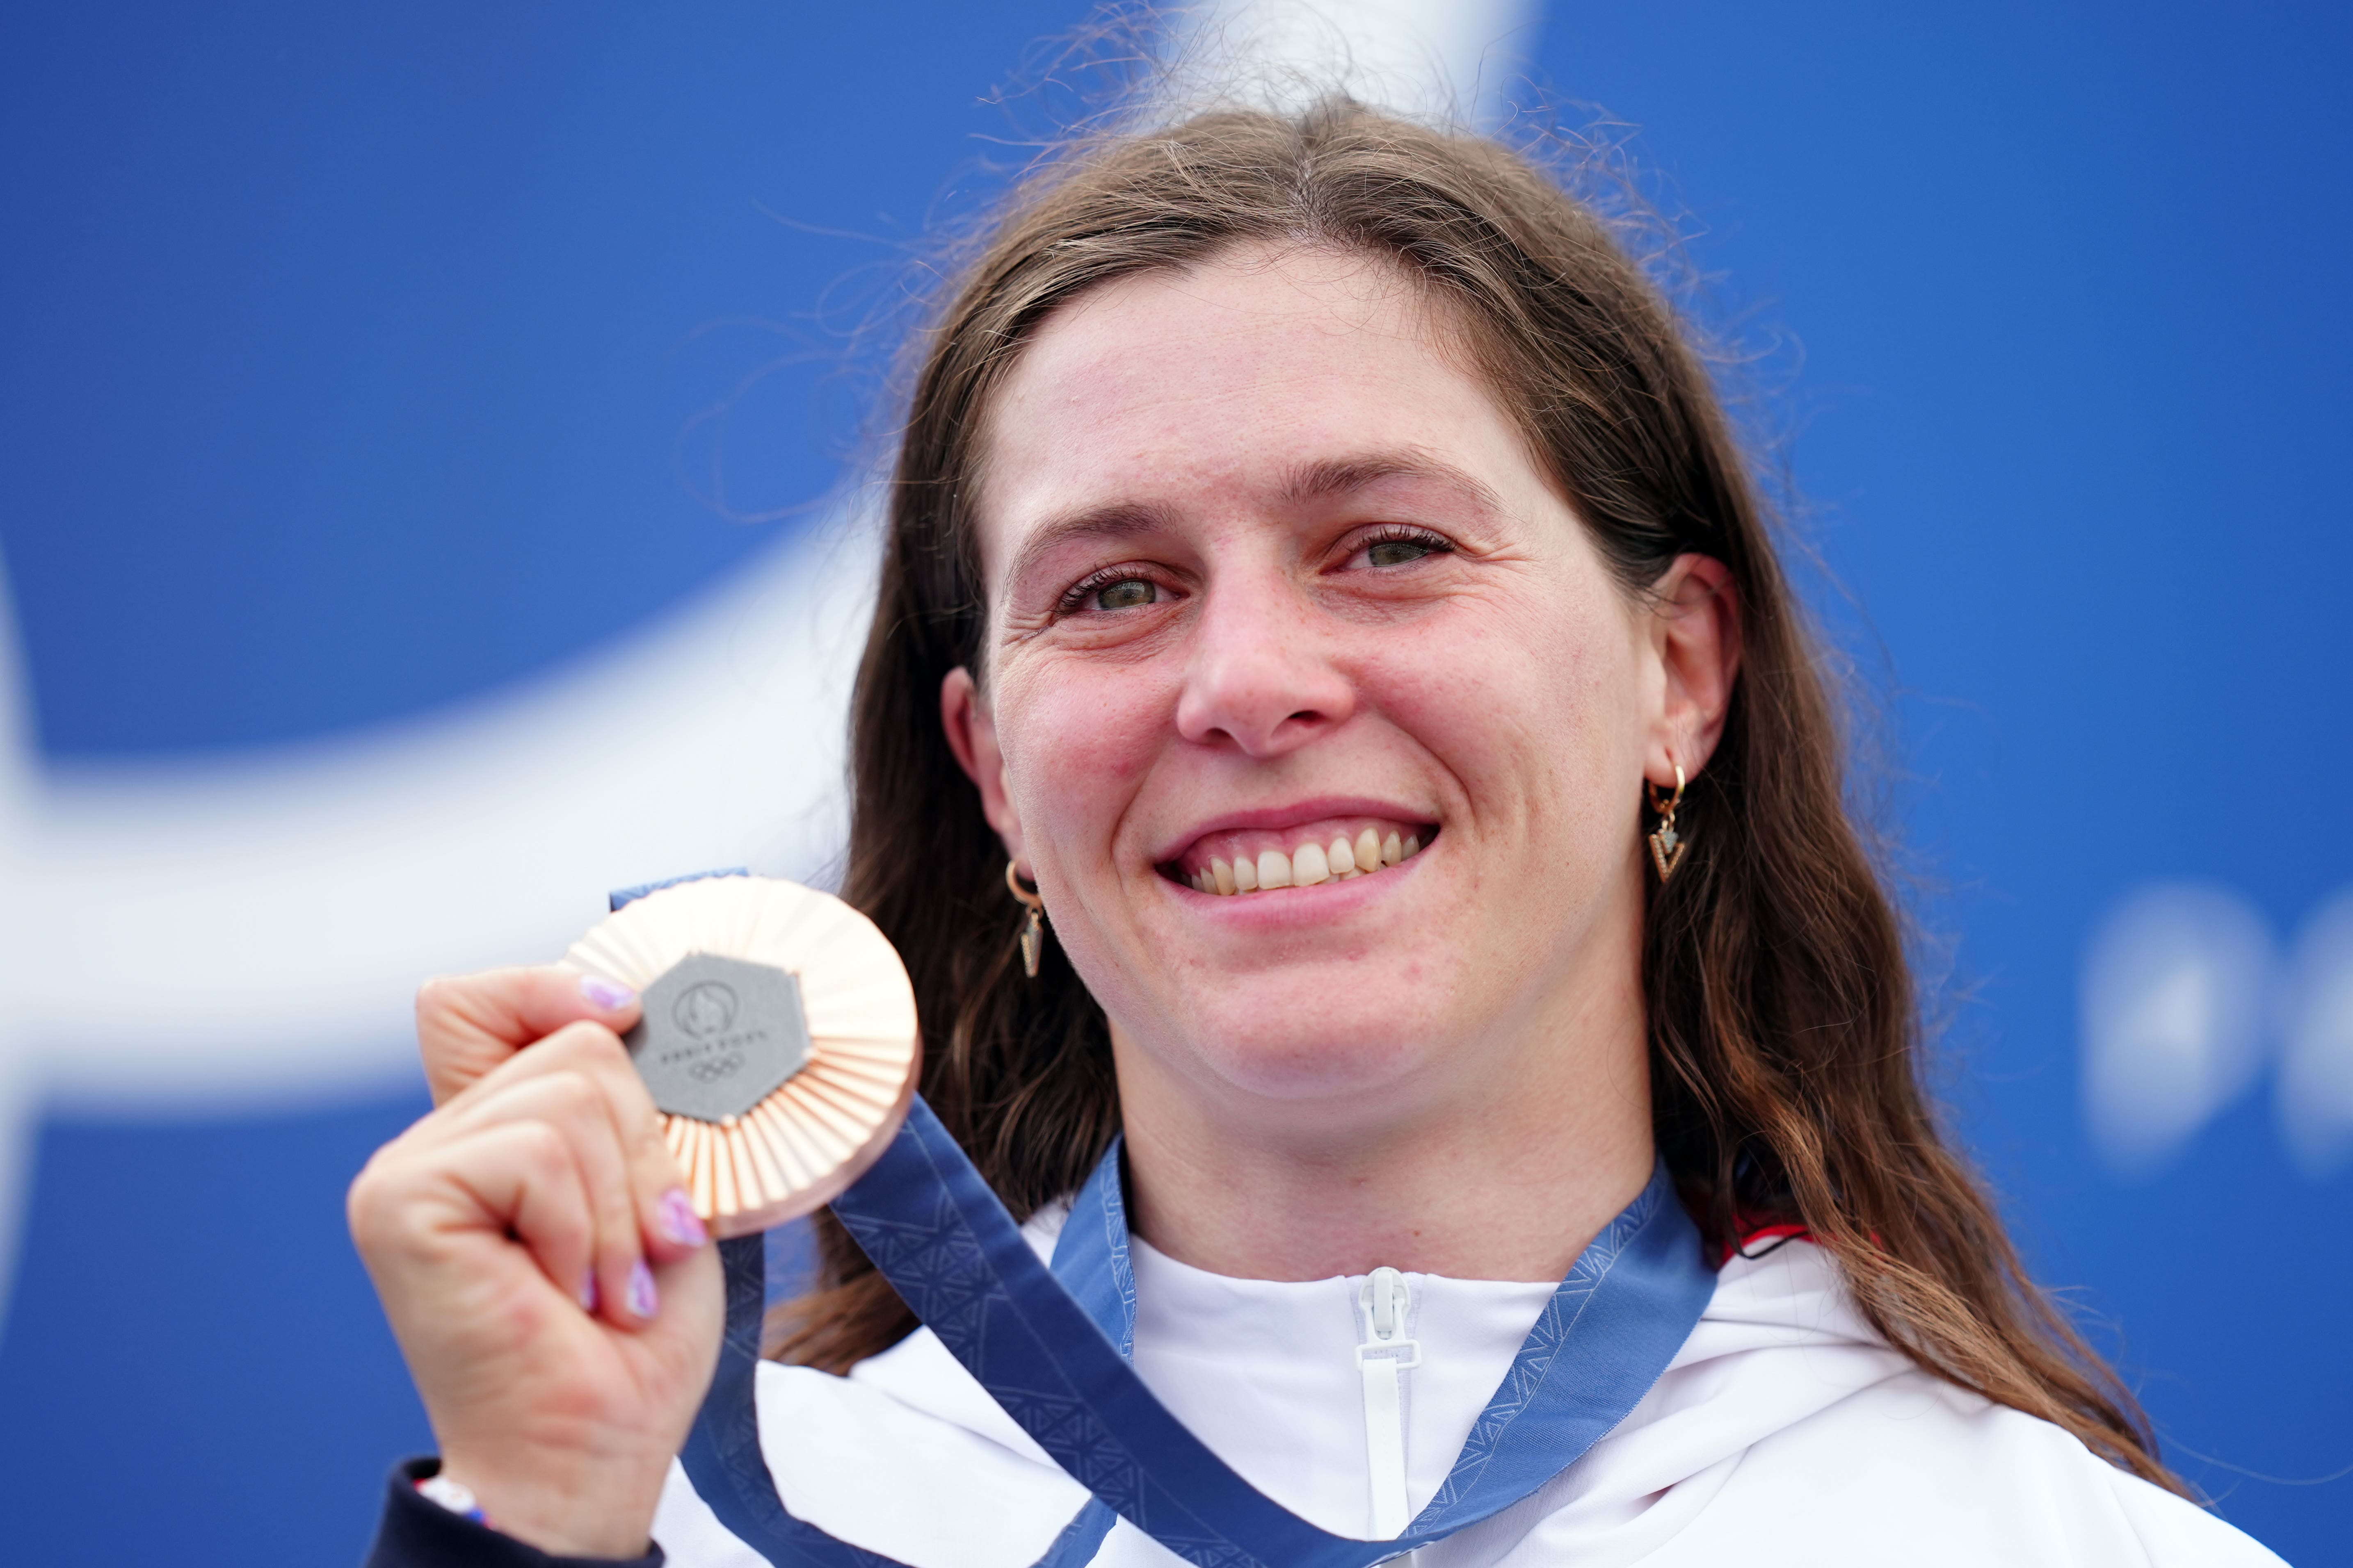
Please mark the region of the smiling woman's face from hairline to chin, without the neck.
POLYGON ((1640 1020, 1640 785, 1713 722, 1447 336, 1240 252, 1066 306, 991 404, 944 712, 1129 1100, 1407 1114, 1640 1020))

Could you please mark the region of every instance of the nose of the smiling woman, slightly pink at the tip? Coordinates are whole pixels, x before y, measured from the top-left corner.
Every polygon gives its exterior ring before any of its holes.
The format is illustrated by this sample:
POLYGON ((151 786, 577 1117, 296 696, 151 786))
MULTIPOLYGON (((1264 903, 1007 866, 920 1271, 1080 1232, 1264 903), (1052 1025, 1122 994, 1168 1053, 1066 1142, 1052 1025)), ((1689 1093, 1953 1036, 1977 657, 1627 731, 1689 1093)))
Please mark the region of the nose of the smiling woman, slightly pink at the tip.
POLYGON ((1355 712, 1355 684, 1332 661, 1311 604, 1280 581, 1212 583, 1176 733, 1198 745, 1233 745, 1245 757, 1282 757, 1339 729, 1355 712))

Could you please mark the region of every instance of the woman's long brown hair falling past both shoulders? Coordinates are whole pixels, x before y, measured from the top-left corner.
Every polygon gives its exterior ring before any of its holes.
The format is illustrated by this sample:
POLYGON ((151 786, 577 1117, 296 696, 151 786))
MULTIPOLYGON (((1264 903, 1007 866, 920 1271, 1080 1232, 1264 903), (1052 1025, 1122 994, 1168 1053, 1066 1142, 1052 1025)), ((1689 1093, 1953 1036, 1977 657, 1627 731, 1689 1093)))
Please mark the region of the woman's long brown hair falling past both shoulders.
MULTIPOLYGON (((1016 193, 922 341, 852 719, 845 896, 915 980, 925 1098, 1014 1215, 1073 1190, 1120 1126, 1085 983, 1054 943, 1035 980, 1016 973, 1021 910, 939 686, 979 665, 976 444, 1028 336, 1106 280, 1247 242, 1381 256, 1447 301, 1628 592, 1680 552, 1732 574, 1744 668, 1642 950, 1657 1140, 1701 1229, 1729 1248, 1802 1225, 1922 1368, 2179 1488, 1939 1133, 1904 931, 1842 799, 1835 682, 1701 360, 1609 223, 1492 139, 1332 99, 1075 143, 1016 193)), ((819 1251, 786 1359, 842 1371, 915 1326, 831 1215, 819 1251)))

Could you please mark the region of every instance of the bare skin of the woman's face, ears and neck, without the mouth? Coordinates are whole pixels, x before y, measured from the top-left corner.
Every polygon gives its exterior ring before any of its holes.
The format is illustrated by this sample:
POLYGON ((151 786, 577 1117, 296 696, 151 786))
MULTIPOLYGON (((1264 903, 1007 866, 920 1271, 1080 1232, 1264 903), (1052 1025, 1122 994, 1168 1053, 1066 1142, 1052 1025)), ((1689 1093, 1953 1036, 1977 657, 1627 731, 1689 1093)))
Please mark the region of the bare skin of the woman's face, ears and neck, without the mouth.
POLYGON ((991 409, 944 715, 1111 1016, 1139 1227, 1200 1267, 1548 1279, 1649 1175, 1640 785, 1704 762, 1737 639, 1713 562, 1675 614, 1609 578, 1457 331, 1384 263, 1233 254, 1064 308, 991 409), (1160 870, 1329 799, 1426 849, 1160 870))

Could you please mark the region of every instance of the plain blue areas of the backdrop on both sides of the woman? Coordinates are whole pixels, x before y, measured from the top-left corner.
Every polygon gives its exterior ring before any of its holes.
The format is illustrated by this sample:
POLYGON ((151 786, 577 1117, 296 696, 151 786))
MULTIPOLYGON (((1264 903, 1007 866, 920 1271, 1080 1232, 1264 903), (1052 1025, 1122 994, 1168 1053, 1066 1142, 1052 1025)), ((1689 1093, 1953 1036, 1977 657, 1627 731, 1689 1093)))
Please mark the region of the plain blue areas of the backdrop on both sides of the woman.
MULTIPOLYGON (((78 7, 0 19, 0 552, 59 764, 428 712, 795 527, 845 339, 1071 5, 78 7), (725 510, 711 425, 736 400, 725 510), (765 517, 765 520, 746 520, 765 517)), ((1824 616, 1887 693, 1951 1093, 2174 1462, 2353 1561, 2353 1175, 2268 1081, 2125 1182, 2075 961, 2151 877, 2287 938, 2353 882, 2341 9, 1558 2, 1772 350, 1824 616)), ((1569 122, 1586 110, 1569 108, 1569 122)), ((49 1117, 0 1340, 21 1561, 355 1559, 426 1446, 341 1227, 416 1098, 49 1117)))

